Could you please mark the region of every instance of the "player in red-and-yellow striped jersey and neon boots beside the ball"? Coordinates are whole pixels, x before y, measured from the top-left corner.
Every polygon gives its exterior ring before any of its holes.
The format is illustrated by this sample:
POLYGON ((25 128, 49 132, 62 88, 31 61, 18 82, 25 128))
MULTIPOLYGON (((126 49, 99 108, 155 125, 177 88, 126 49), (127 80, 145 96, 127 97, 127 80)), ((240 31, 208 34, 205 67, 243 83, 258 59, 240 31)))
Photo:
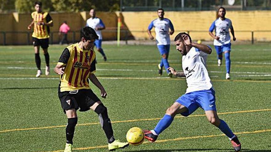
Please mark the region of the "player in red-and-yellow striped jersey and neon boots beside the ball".
POLYGON ((129 146, 128 142, 115 140, 111 121, 108 118, 107 108, 93 93, 89 80, 101 91, 101 97, 106 98, 107 92, 99 82, 94 72, 95 52, 94 42, 98 39, 95 30, 83 27, 80 30, 81 41, 64 49, 55 67, 55 73, 60 75, 58 95, 63 112, 67 115, 66 147, 64 152, 72 151, 73 136, 77 124, 77 110, 95 111, 108 140, 108 149, 116 150, 129 146))

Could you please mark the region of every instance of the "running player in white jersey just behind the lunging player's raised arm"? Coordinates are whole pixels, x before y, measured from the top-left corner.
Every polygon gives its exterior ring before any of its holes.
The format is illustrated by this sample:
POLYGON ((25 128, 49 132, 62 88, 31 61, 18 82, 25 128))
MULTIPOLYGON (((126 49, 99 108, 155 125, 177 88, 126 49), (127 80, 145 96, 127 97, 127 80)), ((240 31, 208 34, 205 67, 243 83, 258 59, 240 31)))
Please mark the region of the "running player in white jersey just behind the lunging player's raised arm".
MULTIPOLYGON (((151 33, 151 29, 155 27, 155 33, 156 33, 156 44, 157 48, 162 56, 160 64, 158 64, 158 73, 161 76, 163 72, 163 66, 167 70, 169 68, 168 64, 168 55, 169 55, 169 48, 170 48, 170 38, 169 35, 172 35, 174 33, 174 27, 172 25, 172 22, 164 18, 164 10, 158 9, 157 15, 158 18, 153 20, 151 24, 148 26, 148 35, 151 40, 154 39, 151 33), (170 31, 169 31, 170 29, 170 31)), ((172 74, 167 70, 168 76, 172 76, 172 74)))

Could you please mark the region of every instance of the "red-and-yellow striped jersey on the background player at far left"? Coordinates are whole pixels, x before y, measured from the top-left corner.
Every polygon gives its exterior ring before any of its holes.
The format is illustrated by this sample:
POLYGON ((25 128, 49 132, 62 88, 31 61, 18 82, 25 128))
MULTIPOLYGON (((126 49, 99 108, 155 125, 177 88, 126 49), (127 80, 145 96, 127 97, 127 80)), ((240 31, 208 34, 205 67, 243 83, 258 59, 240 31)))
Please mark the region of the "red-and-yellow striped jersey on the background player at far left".
POLYGON ((38 22, 51 23, 53 22, 51 16, 48 12, 38 13, 37 11, 31 13, 31 17, 34 20, 34 31, 32 37, 36 37, 38 39, 49 38, 50 29, 47 25, 38 25, 38 22))

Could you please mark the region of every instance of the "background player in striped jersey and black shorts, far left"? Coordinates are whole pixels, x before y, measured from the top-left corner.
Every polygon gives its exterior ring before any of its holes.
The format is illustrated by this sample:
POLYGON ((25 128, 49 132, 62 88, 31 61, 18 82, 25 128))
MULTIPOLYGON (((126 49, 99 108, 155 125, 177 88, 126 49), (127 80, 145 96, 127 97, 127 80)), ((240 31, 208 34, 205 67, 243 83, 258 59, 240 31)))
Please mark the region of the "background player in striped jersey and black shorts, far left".
POLYGON ((31 29, 34 26, 34 31, 32 34, 33 45, 34 45, 34 52, 35 52, 35 62, 38 68, 36 77, 39 77, 42 74, 40 68, 40 56, 39 56, 39 46, 43 49, 43 54, 45 57, 46 68, 45 68, 45 75, 49 75, 50 73, 50 64, 49 64, 49 33, 50 28, 49 26, 53 26, 53 20, 48 12, 42 12, 42 2, 35 2, 34 3, 35 12, 31 14, 33 21, 28 25, 28 29, 31 29))

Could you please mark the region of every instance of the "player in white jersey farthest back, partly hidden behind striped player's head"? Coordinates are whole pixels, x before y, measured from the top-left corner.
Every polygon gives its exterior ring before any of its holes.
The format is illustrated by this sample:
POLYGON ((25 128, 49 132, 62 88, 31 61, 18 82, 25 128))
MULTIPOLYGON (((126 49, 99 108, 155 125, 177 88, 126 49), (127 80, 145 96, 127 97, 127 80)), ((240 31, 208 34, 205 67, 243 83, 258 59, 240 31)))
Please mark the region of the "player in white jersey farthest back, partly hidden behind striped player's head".
MULTIPOLYGON (((94 44, 95 44, 97 50, 102 54, 103 60, 106 61, 107 58, 106 58, 106 56, 103 52, 103 49, 102 49, 103 36, 102 36, 102 31, 101 31, 101 30, 105 29, 105 25, 103 24, 103 21, 100 18, 96 17, 96 11, 94 9, 91 9, 89 11, 89 15, 90 15, 90 18, 87 20, 86 26, 89 26, 92 29, 94 29, 96 34, 98 35, 99 40, 96 40, 94 44)), ((96 59, 95 59, 95 61, 96 61, 96 59)))

